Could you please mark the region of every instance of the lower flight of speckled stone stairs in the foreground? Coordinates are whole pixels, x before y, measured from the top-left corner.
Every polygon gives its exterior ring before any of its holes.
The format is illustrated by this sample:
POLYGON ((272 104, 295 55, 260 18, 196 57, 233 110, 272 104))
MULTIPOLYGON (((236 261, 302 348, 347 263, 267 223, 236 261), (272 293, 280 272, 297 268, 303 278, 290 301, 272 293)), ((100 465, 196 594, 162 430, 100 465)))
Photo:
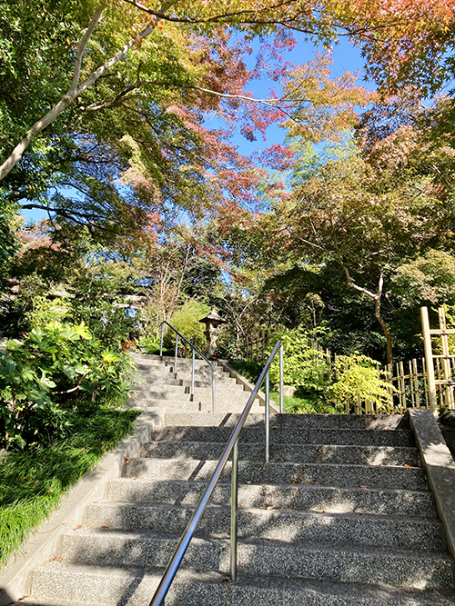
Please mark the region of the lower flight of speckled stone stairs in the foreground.
MULTIPOLYGON (((152 362, 147 381, 158 376, 152 362)), ((185 390, 166 400, 165 426, 33 572, 33 597, 21 604, 149 604, 238 421, 241 393, 227 411, 229 389, 218 390, 226 411, 215 414, 185 390)), ((148 397, 138 393, 136 405, 148 397)), ((252 413, 239 459, 238 581, 228 579, 227 463, 166 606, 455 604, 453 561, 406 418, 273 414, 266 464, 264 415, 252 413)))

